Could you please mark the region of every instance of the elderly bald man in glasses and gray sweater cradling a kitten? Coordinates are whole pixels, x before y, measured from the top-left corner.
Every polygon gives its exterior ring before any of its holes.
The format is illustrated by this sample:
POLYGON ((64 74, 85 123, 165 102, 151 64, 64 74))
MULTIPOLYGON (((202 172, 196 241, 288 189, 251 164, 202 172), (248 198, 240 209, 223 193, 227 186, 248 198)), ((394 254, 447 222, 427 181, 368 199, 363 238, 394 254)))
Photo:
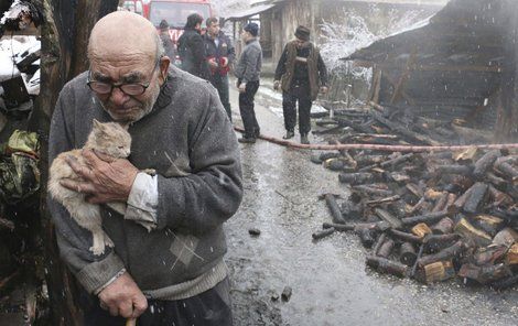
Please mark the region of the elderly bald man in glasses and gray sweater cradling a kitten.
POLYGON ((154 26, 133 13, 99 20, 88 57, 89 72, 60 95, 51 162, 83 146, 93 119, 127 123, 132 144, 129 161, 91 151, 83 152, 87 166, 68 161, 84 182, 63 185, 100 204, 115 243, 102 256, 89 251, 91 235, 48 199, 61 256, 98 297, 85 325, 139 316, 139 325, 231 325, 222 225, 240 204, 241 167, 216 90, 170 66, 154 26), (144 169, 157 174, 139 172, 144 169), (104 205, 112 202, 126 203, 126 211, 104 205))

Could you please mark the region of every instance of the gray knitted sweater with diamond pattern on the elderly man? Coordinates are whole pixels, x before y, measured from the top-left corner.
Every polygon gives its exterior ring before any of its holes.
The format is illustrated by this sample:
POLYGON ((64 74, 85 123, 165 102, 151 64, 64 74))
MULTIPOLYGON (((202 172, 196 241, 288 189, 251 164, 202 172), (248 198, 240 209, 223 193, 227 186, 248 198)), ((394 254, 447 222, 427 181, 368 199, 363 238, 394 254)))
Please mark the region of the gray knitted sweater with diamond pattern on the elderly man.
MULTIPOLYGON (((86 73, 63 88, 52 118, 50 156, 82 148, 93 119, 110 121, 86 86, 86 73)), ((115 248, 88 250, 90 233, 48 199, 61 256, 89 292, 126 268, 149 297, 179 300, 212 289, 226 276, 223 222, 242 196, 239 148, 216 90, 175 67, 153 110, 130 126, 129 160, 158 173, 158 227, 148 232, 102 207, 115 248)))

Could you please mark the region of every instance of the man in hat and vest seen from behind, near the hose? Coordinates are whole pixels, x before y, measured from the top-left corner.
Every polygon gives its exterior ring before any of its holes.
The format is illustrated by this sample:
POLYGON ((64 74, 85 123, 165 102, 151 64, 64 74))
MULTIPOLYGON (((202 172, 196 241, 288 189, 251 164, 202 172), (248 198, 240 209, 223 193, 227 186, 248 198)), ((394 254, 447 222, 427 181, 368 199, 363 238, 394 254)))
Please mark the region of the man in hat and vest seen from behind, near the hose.
POLYGON ((273 88, 282 88, 282 111, 284 113, 283 139, 295 135, 296 102, 299 102, 299 132, 301 143, 309 144, 311 130, 311 106, 319 90, 327 93, 327 72, 319 48, 310 42, 310 29, 298 26, 295 40, 288 43, 277 65, 273 88))

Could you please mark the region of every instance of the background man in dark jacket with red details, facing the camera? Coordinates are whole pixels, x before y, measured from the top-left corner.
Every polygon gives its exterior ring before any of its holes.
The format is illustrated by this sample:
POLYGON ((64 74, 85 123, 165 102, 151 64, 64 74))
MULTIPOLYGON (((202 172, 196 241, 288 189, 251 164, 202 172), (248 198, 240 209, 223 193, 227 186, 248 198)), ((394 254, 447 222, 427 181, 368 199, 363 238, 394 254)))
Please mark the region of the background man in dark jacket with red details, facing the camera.
POLYGON ((231 121, 230 100, 228 99, 228 70, 234 61, 236 52, 230 39, 219 29, 219 21, 212 17, 207 19, 207 32, 203 40, 205 42, 205 54, 211 69, 211 83, 219 94, 228 118, 231 121))

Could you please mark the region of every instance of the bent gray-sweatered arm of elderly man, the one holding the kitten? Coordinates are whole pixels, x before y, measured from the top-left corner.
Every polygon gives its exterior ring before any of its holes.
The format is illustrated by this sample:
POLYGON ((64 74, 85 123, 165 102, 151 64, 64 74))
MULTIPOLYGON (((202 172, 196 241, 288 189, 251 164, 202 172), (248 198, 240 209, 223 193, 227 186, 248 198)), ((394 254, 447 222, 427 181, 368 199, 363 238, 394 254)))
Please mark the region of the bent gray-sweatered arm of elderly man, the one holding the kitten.
POLYGON ((158 229, 204 232, 233 216, 242 197, 240 153, 233 126, 213 88, 195 119, 190 144, 192 174, 159 175, 158 229))

